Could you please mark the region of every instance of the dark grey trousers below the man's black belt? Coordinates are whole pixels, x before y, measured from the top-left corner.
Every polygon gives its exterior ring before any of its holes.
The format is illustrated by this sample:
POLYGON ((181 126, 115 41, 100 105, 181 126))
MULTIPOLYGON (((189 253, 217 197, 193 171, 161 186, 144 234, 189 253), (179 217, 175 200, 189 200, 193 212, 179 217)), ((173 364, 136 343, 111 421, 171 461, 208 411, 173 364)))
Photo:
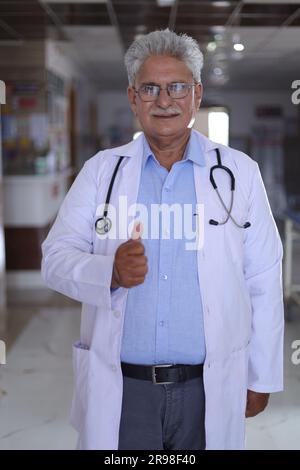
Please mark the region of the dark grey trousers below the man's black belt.
POLYGON ((166 385, 123 376, 119 450, 205 449, 203 378, 166 385))

